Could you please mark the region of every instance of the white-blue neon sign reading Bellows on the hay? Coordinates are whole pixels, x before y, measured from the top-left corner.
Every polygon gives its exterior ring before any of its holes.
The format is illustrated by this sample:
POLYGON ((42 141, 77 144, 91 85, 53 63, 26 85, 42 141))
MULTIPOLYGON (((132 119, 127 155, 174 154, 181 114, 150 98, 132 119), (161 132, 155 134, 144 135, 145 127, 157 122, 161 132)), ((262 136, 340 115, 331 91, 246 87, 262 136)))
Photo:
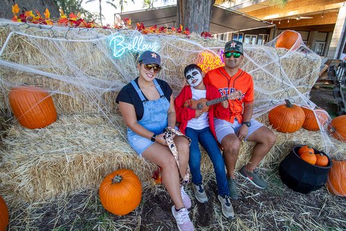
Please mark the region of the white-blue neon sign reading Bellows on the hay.
POLYGON ((157 51, 159 45, 156 41, 145 42, 143 36, 135 36, 125 40, 125 37, 121 35, 116 35, 111 37, 109 41, 109 46, 113 48, 113 56, 120 57, 125 53, 126 50, 129 51, 143 51, 152 50, 157 51))

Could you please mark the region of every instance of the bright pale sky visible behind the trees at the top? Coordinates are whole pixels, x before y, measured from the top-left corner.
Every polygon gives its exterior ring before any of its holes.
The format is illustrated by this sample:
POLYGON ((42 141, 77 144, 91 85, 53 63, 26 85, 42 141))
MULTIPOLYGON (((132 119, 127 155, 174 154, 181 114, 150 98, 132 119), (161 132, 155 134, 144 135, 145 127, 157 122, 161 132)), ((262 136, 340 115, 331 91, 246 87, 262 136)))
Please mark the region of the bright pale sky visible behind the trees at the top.
MULTIPOLYGON (((143 10, 143 0, 134 0, 135 4, 132 3, 131 0, 126 0, 126 1, 127 1, 127 5, 124 5, 124 10, 122 10, 122 12, 143 10)), ((114 3, 118 3, 118 2, 119 0, 114 1, 114 3)), ((89 12, 99 13, 99 8, 100 8, 99 4, 100 4, 99 0, 95 0, 90 3, 85 3, 85 1, 83 1, 82 7, 86 10, 89 10, 89 12)), ((167 0, 167 1, 154 0, 154 8, 167 6, 167 5, 173 5, 173 4, 176 4, 176 0, 167 0)), ((102 19, 102 24, 104 25, 109 24, 112 26, 114 21, 114 14, 120 13, 120 7, 118 7, 118 9, 115 9, 113 8, 113 6, 107 4, 106 0, 102 1, 101 6, 102 6, 102 15, 104 15, 105 17, 105 19, 102 19)))

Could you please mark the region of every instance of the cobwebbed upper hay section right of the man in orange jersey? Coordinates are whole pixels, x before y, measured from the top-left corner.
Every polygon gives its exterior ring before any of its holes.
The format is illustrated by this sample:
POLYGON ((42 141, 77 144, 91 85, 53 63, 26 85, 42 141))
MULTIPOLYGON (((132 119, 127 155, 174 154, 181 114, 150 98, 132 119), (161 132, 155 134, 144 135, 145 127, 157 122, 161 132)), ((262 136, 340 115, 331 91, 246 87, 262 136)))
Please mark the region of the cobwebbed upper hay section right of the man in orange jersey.
POLYGON ((294 98, 296 103, 304 104, 302 95, 309 98, 320 70, 321 59, 316 53, 288 52, 270 46, 245 46, 245 51, 241 68, 255 82, 255 111, 264 111, 271 101, 294 98))

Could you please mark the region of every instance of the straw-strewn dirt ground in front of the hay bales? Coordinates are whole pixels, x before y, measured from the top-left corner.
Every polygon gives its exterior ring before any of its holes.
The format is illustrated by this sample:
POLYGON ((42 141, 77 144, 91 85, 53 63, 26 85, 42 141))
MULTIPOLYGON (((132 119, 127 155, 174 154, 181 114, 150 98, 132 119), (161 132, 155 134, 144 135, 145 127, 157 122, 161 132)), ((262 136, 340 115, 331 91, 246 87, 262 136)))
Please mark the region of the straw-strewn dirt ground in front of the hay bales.
MULTIPOLYGON (((311 101, 333 116, 336 102, 330 88, 311 90, 311 101)), ((322 186, 309 194, 294 192, 282 183, 279 163, 259 174, 268 184, 258 190, 237 175, 239 199, 232 201, 235 218, 222 216, 217 200, 215 175, 202 172, 208 203, 192 199, 190 218, 196 230, 346 230, 346 200, 329 194, 322 186)), ((11 211, 9 230, 177 230, 170 212, 172 201, 163 185, 143 185, 140 205, 126 216, 113 215, 102 207, 98 190, 84 190, 26 209, 11 211)))

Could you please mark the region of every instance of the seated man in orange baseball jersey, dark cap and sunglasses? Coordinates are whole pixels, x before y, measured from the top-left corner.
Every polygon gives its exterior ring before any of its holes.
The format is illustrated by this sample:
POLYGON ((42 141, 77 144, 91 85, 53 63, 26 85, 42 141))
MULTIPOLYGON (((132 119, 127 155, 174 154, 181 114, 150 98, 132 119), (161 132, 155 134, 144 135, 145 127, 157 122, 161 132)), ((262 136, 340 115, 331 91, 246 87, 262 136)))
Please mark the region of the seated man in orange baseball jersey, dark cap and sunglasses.
POLYGON ((273 131, 252 118, 255 100, 253 78, 239 68, 244 59, 243 54, 242 42, 228 41, 224 50, 225 66, 208 71, 203 80, 205 84, 215 86, 223 96, 242 91, 241 98, 230 102, 228 118, 215 118, 215 132, 217 140, 224 147, 228 185, 233 199, 238 198, 235 165, 242 140, 254 141, 256 145, 253 147, 250 161, 239 170, 239 174, 260 189, 266 188, 266 183, 254 170, 276 140, 273 131))

